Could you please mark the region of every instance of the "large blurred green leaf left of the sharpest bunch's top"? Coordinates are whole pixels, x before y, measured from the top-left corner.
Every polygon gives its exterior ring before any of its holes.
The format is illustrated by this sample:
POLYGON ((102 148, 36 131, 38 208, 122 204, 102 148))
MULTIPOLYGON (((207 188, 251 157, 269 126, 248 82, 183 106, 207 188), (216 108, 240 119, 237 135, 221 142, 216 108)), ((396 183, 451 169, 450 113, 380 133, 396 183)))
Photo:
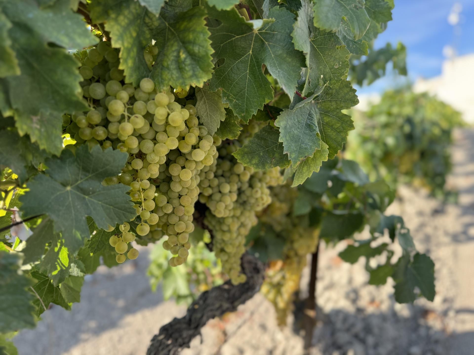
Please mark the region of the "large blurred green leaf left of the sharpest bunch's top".
POLYGON ((63 149, 61 115, 88 109, 80 94, 78 62, 63 49, 47 46, 27 27, 14 25, 9 33, 21 69, 20 75, 8 78, 18 132, 58 155, 63 149))

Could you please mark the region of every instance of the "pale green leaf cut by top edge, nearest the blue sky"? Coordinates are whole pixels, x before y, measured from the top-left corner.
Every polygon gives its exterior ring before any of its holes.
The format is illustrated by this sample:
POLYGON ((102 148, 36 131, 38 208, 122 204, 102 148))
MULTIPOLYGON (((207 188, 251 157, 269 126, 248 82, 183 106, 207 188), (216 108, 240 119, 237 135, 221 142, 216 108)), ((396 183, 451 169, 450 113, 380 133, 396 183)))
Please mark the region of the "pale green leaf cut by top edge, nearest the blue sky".
POLYGON ((364 0, 315 0, 314 26, 336 32, 341 26, 341 19, 346 18, 354 39, 358 40, 370 25, 364 5, 364 0))

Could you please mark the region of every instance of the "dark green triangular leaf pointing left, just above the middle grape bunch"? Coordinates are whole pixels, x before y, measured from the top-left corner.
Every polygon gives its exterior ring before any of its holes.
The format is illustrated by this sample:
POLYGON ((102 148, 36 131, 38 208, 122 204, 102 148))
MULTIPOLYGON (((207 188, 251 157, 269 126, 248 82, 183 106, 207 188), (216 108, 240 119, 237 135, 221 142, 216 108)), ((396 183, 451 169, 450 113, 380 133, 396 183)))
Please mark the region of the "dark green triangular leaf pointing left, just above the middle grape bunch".
POLYGON ((264 126, 232 155, 237 161, 255 169, 285 168, 290 161, 283 154, 283 144, 278 142, 279 134, 272 126, 264 126))

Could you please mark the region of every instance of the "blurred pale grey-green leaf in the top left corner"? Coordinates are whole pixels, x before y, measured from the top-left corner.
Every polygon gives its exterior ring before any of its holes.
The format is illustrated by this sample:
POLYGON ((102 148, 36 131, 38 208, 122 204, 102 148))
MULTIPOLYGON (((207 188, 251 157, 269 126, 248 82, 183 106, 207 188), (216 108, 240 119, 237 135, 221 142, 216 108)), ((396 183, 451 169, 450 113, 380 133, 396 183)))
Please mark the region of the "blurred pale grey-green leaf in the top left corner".
POLYGON ((42 44, 51 42, 66 49, 82 49, 97 43, 82 16, 71 10, 70 1, 55 1, 41 8, 35 0, 5 1, 2 9, 10 21, 18 27, 28 27, 42 44), (67 30, 52 30, 51 24, 61 24, 67 30))

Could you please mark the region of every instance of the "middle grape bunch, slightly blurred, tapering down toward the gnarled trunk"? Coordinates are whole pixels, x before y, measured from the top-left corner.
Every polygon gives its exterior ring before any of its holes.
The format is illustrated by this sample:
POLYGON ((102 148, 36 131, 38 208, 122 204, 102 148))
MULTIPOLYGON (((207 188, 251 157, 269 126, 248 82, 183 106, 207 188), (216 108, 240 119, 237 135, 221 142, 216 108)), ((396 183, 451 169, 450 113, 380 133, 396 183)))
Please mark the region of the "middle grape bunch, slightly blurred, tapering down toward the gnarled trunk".
POLYGON ((233 284, 246 281, 240 257, 245 252, 246 235, 257 223, 255 213, 271 202, 268 186, 283 181, 280 168, 254 171, 237 162, 232 153, 239 147, 238 141, 223 144, 219 158, 199 175, 199 200, 209 208, 204 222, 213 231, 214 251, 233 284))

